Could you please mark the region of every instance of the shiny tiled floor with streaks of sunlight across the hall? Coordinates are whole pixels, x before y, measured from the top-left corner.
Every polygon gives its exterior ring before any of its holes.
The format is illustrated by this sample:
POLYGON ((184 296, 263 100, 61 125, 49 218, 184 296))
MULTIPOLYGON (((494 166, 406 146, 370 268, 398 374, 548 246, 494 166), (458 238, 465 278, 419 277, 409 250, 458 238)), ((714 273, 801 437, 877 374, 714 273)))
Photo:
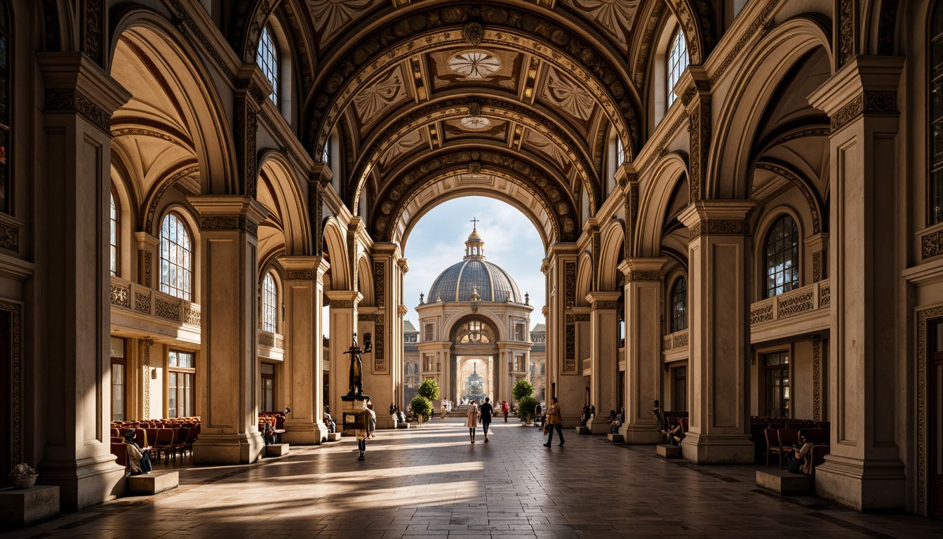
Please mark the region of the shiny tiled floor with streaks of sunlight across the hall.
POLYGON ((758 490, 753 466, 696 466, 566 432, 459 419, 379 431, 367 460, 346 438, 244 466, 176 464, 180 488, 127 497, 10 539, 350 537, 941 537, 943 522, 857 514, 758 490))

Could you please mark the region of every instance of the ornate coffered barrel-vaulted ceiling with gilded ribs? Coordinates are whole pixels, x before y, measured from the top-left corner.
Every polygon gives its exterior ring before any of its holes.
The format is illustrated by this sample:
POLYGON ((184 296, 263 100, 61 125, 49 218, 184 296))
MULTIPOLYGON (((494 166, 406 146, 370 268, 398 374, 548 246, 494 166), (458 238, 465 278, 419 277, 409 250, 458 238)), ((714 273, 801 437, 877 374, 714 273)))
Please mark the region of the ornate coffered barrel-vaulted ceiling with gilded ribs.
POLYGON ((284 0, 315 48, 304 143, 320 160, 337 133, 340 194, 352 211, 367 197, 376 239, 477 191, 572 240, 603 203, 610 142, 629 160, 643 143, 653 28, 678 8, 692 35, 709 26, 712 2, 672 2, 284 0))

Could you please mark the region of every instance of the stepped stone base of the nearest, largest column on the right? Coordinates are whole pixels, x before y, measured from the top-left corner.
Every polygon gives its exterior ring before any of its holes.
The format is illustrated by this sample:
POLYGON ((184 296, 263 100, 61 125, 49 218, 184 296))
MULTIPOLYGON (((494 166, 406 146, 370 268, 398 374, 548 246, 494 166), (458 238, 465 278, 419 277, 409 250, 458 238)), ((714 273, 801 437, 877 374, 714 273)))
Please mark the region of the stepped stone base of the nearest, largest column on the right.
POLYGON ((903 463, 896 460, 826 455, 816 466, 816 495, 855 511, 903 510, 906 484, 903 463))

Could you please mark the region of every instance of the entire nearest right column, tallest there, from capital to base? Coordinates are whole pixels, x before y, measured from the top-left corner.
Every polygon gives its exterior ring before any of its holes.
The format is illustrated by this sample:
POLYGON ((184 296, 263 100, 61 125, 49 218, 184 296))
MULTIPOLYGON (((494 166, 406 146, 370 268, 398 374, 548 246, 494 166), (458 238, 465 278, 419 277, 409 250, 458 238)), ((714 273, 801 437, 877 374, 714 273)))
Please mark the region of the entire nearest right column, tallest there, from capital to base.
POLYGON ((902 207, 897 89, 902 57, 849 59, 809 97, 832 120, 829 249, 832 330, 828 417, 832 449, 816 468, 816 494, 857 511, 903 509, 906 478, 898 446, 906 402, 897 359, 911 323, 901 312, 894 244, 902 207))

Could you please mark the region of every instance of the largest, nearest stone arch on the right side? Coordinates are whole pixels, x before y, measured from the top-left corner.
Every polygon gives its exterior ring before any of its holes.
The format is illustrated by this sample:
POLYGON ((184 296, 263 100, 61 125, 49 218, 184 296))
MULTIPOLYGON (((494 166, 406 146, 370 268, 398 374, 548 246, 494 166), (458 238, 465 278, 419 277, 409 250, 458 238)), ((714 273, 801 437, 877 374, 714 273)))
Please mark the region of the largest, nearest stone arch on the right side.
POLYGON ((829 31, 816 17, 798 15, 776 25, 752 48, 750 56, 737 71, 739 76, 727 99, 720 106, 714 126, 719 136, 711 143, 707 159, 708 198, 748 198, 750 195, 750 152, 762 111, 789 73, 806 53, 822 47, 833 64, 829 31), (736 169, 721 170, 726 163, 736 169))

